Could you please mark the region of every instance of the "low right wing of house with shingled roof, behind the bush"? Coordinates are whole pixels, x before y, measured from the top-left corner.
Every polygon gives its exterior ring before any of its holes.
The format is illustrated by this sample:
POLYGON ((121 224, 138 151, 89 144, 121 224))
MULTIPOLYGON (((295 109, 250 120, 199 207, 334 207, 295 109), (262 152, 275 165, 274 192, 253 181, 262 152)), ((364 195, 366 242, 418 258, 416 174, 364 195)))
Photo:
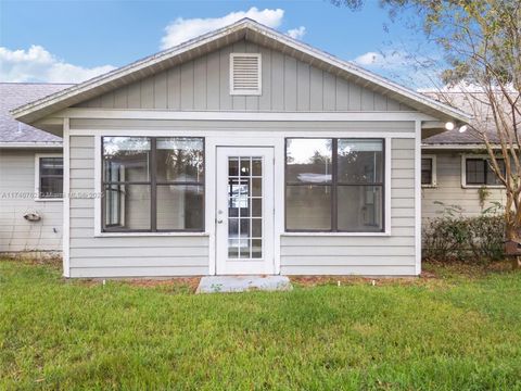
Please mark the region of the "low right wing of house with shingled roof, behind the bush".
MULTIPOLYGON (((476 115, 473 123, 487 129, 488 140, 497 146, 494 121, 485 96, 444 92, 431 97, 476 115)), ((505 187, 499 184, 490 164, 481 137, 457 128, 422 140, 422 207, 423 219, 440 217, 445 207, 457 206, 463 216, 497 212, 505 203, 505 187)))

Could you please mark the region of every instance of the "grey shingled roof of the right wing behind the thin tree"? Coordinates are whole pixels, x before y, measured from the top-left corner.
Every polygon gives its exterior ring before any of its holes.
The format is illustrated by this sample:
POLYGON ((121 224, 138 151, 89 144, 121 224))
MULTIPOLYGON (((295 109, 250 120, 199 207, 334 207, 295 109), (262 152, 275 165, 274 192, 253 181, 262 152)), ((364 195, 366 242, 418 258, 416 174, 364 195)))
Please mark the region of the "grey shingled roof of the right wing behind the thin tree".
MULTIPOLYGON (((485 129, 488 140, 492 143, 498 143, 496 125, 491 113, 491 108, 485 103, 487 101, 485 93, 480 92, 424 92, 427 96, 443 101, 446 104, 460 110, 473 113, 474 118, 470 122, 479 129, 485 129)), ((471 130, 459 133, 458 128, 447 130, 422 140, 423 144, 429 146, 479 146, 483 144, 482 138, 471 130)))

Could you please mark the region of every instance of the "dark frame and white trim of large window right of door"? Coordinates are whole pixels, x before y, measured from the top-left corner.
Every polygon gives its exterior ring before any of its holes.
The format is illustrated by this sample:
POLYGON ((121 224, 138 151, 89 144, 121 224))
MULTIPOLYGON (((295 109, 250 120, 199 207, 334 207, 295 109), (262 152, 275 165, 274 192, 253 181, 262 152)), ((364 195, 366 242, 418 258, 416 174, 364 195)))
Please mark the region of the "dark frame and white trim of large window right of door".
POLYGON ((387 188, 387 185, 391 182, 390 173, 391 173, 391 140, 386 137, 351 137, 351 136, 335 136, 335 137, 298 137, 291 136, 284 137, 284 177, 282 186, 284 187, 284 222, 283 222, 283 235, 284 236, 300 236, 300 235, 309 235, 309 236, 390 236, 390 214, 391 205, 387 201, 391 189, 387 188), (287 190, 288 190, 288 139, 331 139, 332 140, 332 154, 331 154, 331 181, 328 184, 291 184, 289 186, 329 186, 331 188, 331 229, 288 229, 288 207, 287 202, 287 190), (340 184, 338 182, 338 144, 339 139, 358 139, 358 140, 378 140, 382 142, 382 181, 372 182, 372 184, 340 184), (377 231, 368 230, 339 230, 338 228, 338 194, 336 189, 339 186, 367 186, 367 187, 381 187, 382 189, 382 229, 377 231))

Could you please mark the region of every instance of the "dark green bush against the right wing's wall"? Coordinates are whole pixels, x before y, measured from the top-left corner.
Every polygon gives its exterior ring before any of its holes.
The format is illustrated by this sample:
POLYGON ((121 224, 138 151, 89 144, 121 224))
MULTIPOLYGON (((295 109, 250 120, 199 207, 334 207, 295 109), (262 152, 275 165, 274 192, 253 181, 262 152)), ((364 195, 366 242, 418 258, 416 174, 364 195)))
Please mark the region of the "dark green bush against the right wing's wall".
POLYGON ((463 217, 459 206, 443 206, 442 216, 429 219, 423 228, 424 258, 482 262, 504 258, 505 217, 497 207, 478 217, 463 217))

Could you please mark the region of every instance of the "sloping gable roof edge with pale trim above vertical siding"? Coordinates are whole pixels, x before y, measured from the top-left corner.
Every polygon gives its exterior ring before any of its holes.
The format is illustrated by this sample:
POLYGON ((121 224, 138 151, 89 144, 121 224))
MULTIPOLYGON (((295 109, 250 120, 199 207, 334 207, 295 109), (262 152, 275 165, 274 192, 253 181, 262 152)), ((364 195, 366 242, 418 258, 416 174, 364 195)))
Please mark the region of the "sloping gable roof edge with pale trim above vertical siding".
POLYGON ((16 119, 31 124, 60 110, 151 76, 157 72, 241 39, 247 39, 252 42, 293 55, 328 72, 361 84, 364 87, 389 96, 425 114, 431 114, 442 121, 457 121, 462 123, 470 121, 468 114, 457 109, 363 70, 351 62, 340 60, 331 54, 317 50, 250 18, 243 18, 227 27, 202 35, 177 47, 69 87, 50 97, 25 104, 13 110, 12 114, 16 119))

